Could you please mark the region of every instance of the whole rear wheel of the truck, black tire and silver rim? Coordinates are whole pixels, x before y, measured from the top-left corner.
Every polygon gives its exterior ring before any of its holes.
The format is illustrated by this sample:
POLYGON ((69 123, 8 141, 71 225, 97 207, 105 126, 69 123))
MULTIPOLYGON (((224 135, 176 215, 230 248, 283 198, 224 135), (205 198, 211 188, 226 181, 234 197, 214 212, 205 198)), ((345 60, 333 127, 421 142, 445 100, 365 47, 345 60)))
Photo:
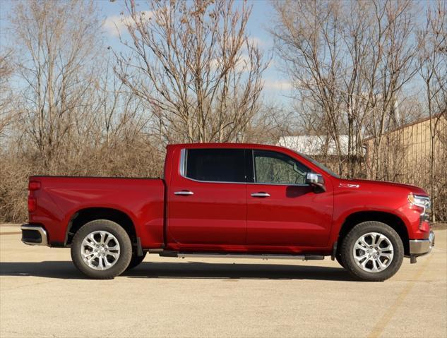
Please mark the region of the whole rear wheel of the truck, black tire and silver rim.
POLYGON ((126 270, 132 255, 129 235, 108 219, 88 222, 71 243, 74 265, 90 278, 112 279, 126 270))

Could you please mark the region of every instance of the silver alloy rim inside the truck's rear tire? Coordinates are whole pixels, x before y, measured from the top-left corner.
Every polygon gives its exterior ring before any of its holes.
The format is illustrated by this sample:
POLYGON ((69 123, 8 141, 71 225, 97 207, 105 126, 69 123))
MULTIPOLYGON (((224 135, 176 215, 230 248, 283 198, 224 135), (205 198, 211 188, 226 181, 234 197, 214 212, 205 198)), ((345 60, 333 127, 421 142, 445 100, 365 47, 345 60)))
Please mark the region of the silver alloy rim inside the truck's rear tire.
POLYGON ((94 270, 107 270, 119 258, 119 242, 108 231, 90 232, 81 244, 81 257, 94 270))

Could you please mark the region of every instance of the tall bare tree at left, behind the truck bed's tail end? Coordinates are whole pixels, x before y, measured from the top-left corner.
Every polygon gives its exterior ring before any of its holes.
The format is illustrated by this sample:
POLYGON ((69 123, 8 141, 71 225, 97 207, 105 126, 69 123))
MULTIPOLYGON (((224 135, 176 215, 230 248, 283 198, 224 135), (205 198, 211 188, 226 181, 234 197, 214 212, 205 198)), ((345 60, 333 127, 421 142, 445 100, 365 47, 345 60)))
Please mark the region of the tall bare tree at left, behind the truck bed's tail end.
POLYGON ((12 13, 18 75, 26 83, 23 124, 49 169, 71 126, 90 108, 101 22, 93 1, 20 1, 12 13))

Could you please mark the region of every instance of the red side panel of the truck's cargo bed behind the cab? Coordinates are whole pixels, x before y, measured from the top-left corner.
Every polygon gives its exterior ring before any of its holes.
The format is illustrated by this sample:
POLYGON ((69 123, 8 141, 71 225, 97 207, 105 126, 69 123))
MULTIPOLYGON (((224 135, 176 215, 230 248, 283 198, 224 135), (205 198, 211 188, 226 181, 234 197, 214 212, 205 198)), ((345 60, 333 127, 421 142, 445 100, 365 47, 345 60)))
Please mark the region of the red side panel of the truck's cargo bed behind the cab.
POLYGON ((38 206, 32 224, 44 224, 50 246, 63 246, 71 222, 81 210, 119 210, 131 218, 145 247, 163 244, 165 183, 162 179, 32 176, 40 187, 31 191, 38 206))

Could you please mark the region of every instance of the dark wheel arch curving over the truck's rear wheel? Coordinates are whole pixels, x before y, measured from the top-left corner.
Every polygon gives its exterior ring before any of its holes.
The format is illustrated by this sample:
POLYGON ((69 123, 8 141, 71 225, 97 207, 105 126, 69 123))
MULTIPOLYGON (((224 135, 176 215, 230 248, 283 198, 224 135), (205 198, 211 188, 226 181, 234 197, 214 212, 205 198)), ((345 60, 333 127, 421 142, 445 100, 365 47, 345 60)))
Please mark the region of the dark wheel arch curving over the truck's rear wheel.
POLYGON ((107 219, 119 224, 129 234, 131 243, 136 243, 136 227, 131 217, 121 210, 112 207, 86 207, 71 215, 68 221, 64 246, 70 246, 73 236, 81 227, 95 219, 107 219))

